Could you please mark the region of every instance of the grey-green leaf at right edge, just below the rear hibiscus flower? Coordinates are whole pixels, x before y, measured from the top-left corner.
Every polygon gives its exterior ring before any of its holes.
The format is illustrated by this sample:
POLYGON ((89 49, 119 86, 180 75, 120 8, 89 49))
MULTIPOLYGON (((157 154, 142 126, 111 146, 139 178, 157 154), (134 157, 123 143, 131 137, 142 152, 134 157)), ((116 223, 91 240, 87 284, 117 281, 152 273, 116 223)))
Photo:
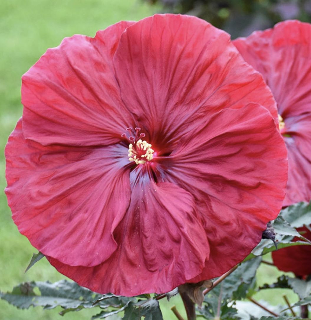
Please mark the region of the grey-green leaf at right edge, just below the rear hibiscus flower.
POLYGON ((311 202, 300 202, 281 210, 282 216, 293 228, 311 224, 311 202))

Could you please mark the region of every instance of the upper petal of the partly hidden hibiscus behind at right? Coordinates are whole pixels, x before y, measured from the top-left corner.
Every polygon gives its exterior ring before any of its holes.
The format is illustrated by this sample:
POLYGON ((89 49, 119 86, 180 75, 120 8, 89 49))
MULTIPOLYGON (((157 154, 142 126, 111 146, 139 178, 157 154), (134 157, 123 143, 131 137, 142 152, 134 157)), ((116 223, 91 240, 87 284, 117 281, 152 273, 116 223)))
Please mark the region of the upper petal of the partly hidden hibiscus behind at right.
POLYGON ((261 72, 283 118, 310 112, 311 25, 290 20, 233 41, 243 58, 261 72))

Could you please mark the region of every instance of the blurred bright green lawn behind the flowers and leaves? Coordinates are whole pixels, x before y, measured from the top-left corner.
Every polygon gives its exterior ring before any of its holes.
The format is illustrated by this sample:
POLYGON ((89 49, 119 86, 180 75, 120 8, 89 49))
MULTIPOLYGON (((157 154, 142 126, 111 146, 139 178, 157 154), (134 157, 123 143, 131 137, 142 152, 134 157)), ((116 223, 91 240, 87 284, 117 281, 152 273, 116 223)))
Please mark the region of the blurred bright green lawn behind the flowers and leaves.
MULTIPOLYGON (((66 36, 85 34, 94 36, 119 20, 139 20, 152 15, 158 8, 143 4, 140 0, 7 0, 0 2, 0 125, 1 150, 14 126, 22 115, 20 104, 20 78, 47 50, 60 44, 66 36)), ((5 161, 1 153, 1 186, 5 188, 5 161)), ((42 259, 26 274, 24 270, 36 250, 19 234, 11 220, 4 192, 0 193, 0 290, 11 290, 24 281, 51 282, 65 278, 42 259)), ((274 267, 264 266, 259 272, 259 282, 273 281, 278 275, 274 267)), ((104 280, 103 280, 104 281, 104 280)), ((282 301, 281 292, 273 291, 268 300, 272 304, 282 301)), ((263 297, 257 295, 258 299, 263 297)), ((293 295, 290 295, 295 299, 293 295)), ((178 297, 170 303, 162 300, 164 319, 174 319, 169 308, 177 304, 185 316, 178 297)), ((30 308, 19 310, 0 300, 0 320, 61 319, 61 309, 43 310, 30 308)), ((66 320, 89 319, 97 311, 82 310, 69 313, 66 320)))

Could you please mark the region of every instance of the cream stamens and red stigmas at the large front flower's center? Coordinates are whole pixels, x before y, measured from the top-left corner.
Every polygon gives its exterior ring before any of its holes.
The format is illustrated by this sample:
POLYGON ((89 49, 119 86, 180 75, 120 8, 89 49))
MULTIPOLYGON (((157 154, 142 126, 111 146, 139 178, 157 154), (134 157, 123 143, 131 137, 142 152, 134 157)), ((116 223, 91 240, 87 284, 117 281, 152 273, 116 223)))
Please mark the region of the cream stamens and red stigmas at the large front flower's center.
POLYGON ((128 146, 128 159, 134 161, 136 164, 144 164, 146 161, 150 161, 153 158, 154 150, 151 148, 151 144, 141 138, 145 137, 145 133, 140 133, 140 128, 135 128, 133 132, 132 128, 127 128, 129 137, 125 133, 122 133, 122 137, 126 138, 130 144, 128 146), (132 135, 134 133, 134 136, 132 135))

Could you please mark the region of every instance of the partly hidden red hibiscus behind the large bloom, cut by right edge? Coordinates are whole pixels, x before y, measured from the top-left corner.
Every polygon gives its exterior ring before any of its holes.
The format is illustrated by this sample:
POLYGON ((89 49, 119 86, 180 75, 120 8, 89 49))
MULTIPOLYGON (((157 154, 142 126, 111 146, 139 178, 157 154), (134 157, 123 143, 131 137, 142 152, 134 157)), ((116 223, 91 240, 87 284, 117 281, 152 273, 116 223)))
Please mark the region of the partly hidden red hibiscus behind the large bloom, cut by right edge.
POLYGON ((269 85, 288 150, 284 206, 311 199, 311 25, 278 23, 233 41, 269 85))

